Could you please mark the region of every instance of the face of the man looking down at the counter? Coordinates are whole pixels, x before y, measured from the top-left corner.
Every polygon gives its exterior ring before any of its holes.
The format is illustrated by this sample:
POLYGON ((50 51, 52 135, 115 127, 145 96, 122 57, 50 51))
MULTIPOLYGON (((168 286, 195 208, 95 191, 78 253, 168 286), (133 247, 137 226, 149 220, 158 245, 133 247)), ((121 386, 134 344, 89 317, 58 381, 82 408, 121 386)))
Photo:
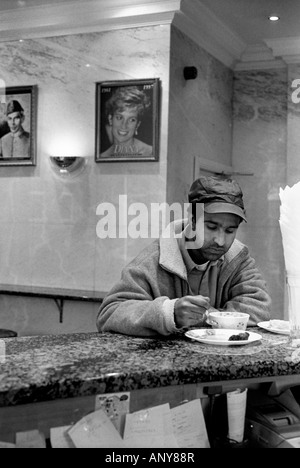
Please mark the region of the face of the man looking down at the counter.
MULTIPOLYGON (((241 218, 232 213, 204 213, 204 242, 193 251, 192 258, 197 263, 218 260, 230 249, 240 222, 241 218)), ((203 218, 197 223, 203 223, 203 218)), ((200 232, 197 225, 196 231, 200 232)))

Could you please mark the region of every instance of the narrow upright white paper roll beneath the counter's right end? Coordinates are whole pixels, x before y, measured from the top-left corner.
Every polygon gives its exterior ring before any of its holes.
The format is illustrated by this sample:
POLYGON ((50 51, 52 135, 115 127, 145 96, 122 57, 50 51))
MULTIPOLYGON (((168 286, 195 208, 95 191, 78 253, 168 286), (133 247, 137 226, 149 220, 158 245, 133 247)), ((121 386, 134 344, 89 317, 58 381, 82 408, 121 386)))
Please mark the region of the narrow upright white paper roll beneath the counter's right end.
POLYGON ((244 440, 247 391, 238 388, 227 393, 228 438, 235 442, 244 440))

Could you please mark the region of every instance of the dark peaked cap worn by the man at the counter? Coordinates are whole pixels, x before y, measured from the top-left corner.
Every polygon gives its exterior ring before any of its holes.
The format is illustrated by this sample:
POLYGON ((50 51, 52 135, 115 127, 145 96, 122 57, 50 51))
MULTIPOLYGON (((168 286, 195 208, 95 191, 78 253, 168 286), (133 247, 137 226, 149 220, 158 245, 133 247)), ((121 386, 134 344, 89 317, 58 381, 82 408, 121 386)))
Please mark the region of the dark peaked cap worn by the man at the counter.
POLYGON ((247 222, 243 192, 233 179, 199 177, 191 185, 189 202, 204 203, 206 213, 232 213, 247 222))

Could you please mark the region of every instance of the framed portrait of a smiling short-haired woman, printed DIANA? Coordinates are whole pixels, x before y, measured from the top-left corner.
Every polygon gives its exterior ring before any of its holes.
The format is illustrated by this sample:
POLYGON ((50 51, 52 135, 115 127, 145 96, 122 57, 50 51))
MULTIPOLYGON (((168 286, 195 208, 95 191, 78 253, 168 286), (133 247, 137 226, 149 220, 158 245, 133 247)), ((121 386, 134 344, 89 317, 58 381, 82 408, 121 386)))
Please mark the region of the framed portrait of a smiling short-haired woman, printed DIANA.
POLYGON ((158 161, 159 99, 159 78, 96 83, 95 161, 158 161))

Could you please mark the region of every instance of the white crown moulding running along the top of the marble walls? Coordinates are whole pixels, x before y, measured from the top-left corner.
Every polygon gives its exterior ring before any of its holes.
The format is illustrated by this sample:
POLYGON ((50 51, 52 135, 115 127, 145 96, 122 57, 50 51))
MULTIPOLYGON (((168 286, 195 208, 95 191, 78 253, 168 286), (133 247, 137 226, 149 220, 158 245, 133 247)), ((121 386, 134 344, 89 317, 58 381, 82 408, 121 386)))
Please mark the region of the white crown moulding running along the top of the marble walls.
POLYGON ((161 24, 173 24, 233 70, 300 63, 300 37, 247 47, 199 0, 70 0, 15 8, 1 12, 0 42, 161 24))

